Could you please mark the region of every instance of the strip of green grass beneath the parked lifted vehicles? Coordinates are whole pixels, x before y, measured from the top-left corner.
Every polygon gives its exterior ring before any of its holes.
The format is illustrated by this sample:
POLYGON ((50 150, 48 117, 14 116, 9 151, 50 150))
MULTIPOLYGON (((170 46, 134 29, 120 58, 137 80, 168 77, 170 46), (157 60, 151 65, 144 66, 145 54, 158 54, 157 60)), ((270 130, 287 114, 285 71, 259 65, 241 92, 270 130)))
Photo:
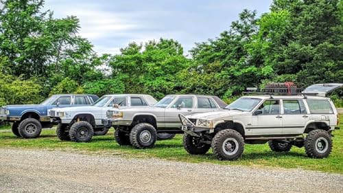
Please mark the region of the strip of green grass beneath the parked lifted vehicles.
MULTIPOLYGON (((343 121, 343 116, 340 117, 343 121)), ((211 150, 206 155, 188 155, 182 146, 182 135, 174 139, 157 141, 155 148, 137 150, 131 146, 119 146, 113 137, 113 130, 105 136, 95 136, 90 143, 74 143, 60 141, 55 130, 43 130, 37 139, 20 139, 14 137, 10 128, 0 129, 0 148, 30 148, 45 150, 64 150, 92 155, 123 156, 134 158, 158 158, 192 163, 215 163, 228 165, 244 165, 254 167, 301 168, 343 174, 343 123, 341 130, 335 130, 333 135, 333 151, 327 159, 311 159, 305 154, 304 148, 292 148, 290 152, 272 152, 268 144, 247 144, 244 154, 237 161, 218 161, 211 150)))

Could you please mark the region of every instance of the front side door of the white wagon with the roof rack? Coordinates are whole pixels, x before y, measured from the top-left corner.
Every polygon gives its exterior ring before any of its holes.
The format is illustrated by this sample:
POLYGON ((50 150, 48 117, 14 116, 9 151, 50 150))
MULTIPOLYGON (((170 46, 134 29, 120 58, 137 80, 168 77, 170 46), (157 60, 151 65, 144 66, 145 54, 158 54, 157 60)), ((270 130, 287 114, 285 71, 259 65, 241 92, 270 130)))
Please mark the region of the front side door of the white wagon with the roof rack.
POLYGON ((280 100, 265 100, 252 113, 252 135, 279 135, 282 134, 282 121, 280 100))

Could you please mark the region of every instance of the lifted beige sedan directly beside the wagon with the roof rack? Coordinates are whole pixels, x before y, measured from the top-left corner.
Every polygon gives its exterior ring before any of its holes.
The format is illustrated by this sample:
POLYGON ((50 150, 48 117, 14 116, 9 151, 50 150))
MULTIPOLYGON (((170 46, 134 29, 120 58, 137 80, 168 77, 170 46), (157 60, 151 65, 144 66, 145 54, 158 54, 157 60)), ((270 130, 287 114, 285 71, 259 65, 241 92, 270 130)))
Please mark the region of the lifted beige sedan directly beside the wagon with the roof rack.
POLYGON ((167 95, 154 106, 110 109, 103 124, 115 127, 115 139, 120 145, 152 148, 157 133, 183 133, 178 114, 223 111, 226 105, 211 95, 167 95))

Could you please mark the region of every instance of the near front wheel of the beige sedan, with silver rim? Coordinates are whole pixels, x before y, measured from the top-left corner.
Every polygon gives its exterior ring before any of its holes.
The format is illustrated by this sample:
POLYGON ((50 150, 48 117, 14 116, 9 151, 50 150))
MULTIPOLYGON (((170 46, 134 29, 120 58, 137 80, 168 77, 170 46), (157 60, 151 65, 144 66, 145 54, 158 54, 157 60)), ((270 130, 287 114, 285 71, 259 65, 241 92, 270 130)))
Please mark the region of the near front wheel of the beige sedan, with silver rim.
POLYGON ((151 124, 140 123, 130 132, 130 142, 138 149, 153 148, 156 142, 156 129, 151 124))

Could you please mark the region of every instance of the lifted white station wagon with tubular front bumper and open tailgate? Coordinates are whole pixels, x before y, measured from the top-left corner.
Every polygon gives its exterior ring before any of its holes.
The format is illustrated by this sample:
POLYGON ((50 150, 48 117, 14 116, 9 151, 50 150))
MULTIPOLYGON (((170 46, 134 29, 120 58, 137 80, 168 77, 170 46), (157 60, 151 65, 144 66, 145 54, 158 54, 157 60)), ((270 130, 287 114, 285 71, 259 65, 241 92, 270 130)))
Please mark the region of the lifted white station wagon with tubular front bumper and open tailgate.
POLYGON ((338 129, 338 112, 329 98, 318 96, 244 96, 227 111, 180 114, 183 146, 192 155, 212 147, 220 160, 241 157, 244 144, 265 144, 276 152, 305 146, 309 157, 328 157, 331 132, 338 129))

